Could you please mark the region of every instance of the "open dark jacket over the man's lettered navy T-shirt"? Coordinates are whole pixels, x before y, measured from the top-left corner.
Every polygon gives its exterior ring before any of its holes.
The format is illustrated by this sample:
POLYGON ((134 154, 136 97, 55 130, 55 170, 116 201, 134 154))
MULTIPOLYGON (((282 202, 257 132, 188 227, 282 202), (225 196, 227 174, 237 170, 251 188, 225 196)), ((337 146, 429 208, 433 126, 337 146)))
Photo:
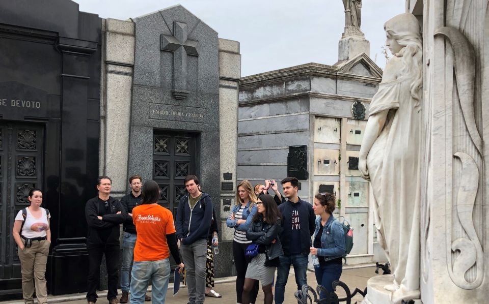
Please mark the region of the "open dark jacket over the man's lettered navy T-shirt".
MULTIPOLYGON (((282 197, 285 200, 284 197, 282 197)), ((276 201, 280 201, 277 195, 275 196, 276 201)), ((278 206, 280 213, 283 218, 283 230, 280 235, 280 240, 282 241, 282 248, 284 250, 284 255, 290 256, 290 247, 294 244, 291 242, 292 234, 292 206, 294 203, 287 200, 278 206)), ((302 199, 296 203, 299 211, 299 220, 301 222, 301 252, 302 254, 309 254, 311 252, 310 248, 312 245, 311 236, 316 228, 316 216, 314 215, 314 210, 312 205, 302 199)))

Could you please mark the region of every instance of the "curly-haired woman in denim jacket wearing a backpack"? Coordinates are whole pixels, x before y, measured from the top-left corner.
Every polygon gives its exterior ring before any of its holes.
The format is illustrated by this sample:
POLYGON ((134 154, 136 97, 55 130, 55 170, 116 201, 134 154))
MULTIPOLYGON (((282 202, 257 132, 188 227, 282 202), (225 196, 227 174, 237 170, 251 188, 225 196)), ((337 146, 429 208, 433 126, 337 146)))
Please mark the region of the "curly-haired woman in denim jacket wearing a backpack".
MULTIPOLYGON (((339 280, 343 270, 341 261, 345 254, 345 234, 341 223, 332 215, 335 210, 335 196, 321 193, 314 197, 312 208, 316 217, 311 254, 319 263, 314 263, 317 284, 333 292, 333 281, 339 280)), ((326 295, 321 292, 320 298, 326 295)))

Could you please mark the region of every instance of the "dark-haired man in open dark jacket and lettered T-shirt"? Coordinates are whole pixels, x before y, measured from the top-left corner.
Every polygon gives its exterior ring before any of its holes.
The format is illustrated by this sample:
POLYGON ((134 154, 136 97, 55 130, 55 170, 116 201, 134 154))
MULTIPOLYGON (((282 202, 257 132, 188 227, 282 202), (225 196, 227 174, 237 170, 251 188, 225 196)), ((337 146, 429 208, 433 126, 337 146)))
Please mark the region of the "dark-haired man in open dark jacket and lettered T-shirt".
POLYGON ((307 263, 311 247, 311 235, 315 229, 314 210, 312 205, 297 196, 299 181, 295 177, 286 177, 281 181, 287 201, 278 191, 275 201, 283 217, 280 241, 284 255, 280 256, 280 266, 277 268, 277 284, 275 285, 275 304, 284 301, 285 285, 289 276, 290 265, 294 266, 297 289, 307 284, 307 263))

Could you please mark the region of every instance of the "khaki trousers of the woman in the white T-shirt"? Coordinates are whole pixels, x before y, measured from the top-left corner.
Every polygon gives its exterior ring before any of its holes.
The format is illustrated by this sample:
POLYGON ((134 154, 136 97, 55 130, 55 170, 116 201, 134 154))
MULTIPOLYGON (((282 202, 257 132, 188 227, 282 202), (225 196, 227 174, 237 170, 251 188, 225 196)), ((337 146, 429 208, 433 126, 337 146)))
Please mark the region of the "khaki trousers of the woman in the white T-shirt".
MULTIPOLYGON (((22 239, 23 241, 23 239, 22 239)), ((20 259, 20 272, 22 273, 22 296, 25 303, 34 304, 34 288, 36 289, 37 302, 47 303, 46 292, 46 263, 49 254, 48 240, 34 240, 32 246, 24 250, 17 248, 20 259)))

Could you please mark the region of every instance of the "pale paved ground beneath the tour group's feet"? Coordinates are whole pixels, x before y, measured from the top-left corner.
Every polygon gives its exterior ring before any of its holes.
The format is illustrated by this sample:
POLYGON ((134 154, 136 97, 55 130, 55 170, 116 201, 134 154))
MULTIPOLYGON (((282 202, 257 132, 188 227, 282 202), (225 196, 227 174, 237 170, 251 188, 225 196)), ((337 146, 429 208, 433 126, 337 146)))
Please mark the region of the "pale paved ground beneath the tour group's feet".
MULTIPOLYGON (((376 276, 375 272, 375 267, 365 267, 365 268, 353 268, 353 269, 344 269, 343 273, 341 275, 340 280, 344 282, 348 287, 350 288, 351 292, 355 290, 355 288, 359 288, 361 290, 364 290, 364 288, 367 286, 367 280, 373 276, 376 276)), ((235 280, 236 277, 230 277, 230 278, 221 278, 218 279, 217 282, 221 282, 215 285, 214 290, 221 293, 223 295, 222 298, 212 298, 212 297, 206 297, 205 302, 208 304, 234 304, 236 303, 236 289, 235 289, 235 280)), ((316 288, 316 278, 314 276, 314 272, 308 271, 307 275, 307 282, 309 283, 310 286, 316 288)), ((172 290, 173 290, 173 284, 170 284, 171 289, 168 290, 167 293, 167 298, 166 298, 166 303, 168 304, 186 304, 188 297, 187 297, 187 290, 186 288, 180 288, 180 291, 177 293, 177 295, 172 296, 172 290)), ((294 292, 295 292, 295 279, 293 277, 293 273, 291 271, 291 276, 288 279, 288 283, 285 289, 285 301, 284 304, 293 304, 297 303, 294 298, 294 292)), ((339 288, 337 290, 337 294, 339 297, 345 296, 345 292, 339 288), (339 291, 341 290, 341 291, 339 291)), ((108 303, 107 299, 105 298, 106 292, 98 292, 99 298, 97 301, 97 304, 106 304, 108 303)), ((120 290, 119 290, 119 295, 120 295, 120 290)), ((354 299, 351 301, 351 303, 355 303, 355 301, 358 301, 358 303, 361 303, 363 300, 363 297, 361 295, 356 295, 354 299)), ((6 301, 6 302, 0 302, 0 304, 22 304, 23 301, 6 301)), ((70 304, 86 304, 87 300, 85 299, 85 294, 71 294, 71 295, 64 295, 64 296, 56 296, 56 297, 49 297, 49 303, 70 303, 70 304)), ((149 302, 147 302, 149 303, 149 302)), ((258 298, 256 300, 256 303, 263 303, 263 292, 260 289, 260 293, 258 293, 258 298)))

